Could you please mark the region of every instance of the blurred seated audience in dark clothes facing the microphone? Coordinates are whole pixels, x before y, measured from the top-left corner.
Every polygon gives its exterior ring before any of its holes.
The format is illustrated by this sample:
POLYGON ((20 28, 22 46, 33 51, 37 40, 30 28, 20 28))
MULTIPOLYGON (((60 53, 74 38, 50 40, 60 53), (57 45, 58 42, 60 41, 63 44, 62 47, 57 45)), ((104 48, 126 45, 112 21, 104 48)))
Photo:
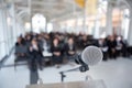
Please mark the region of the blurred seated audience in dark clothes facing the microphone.
POLYGON ((127 57, 131 53, 127 41, 119 35, 97 40, 86 34, 31 32, 18 37, 14 63, 28 61, 31 69, 35 70, 37 67, 43 69, 45 62, 48 61, 52 65, 63 64, 64 61, 74 59, 77 52, 81 52, 89 45, 96 45, 102 50, 103 61, 116 59, 117 56, 127 57))

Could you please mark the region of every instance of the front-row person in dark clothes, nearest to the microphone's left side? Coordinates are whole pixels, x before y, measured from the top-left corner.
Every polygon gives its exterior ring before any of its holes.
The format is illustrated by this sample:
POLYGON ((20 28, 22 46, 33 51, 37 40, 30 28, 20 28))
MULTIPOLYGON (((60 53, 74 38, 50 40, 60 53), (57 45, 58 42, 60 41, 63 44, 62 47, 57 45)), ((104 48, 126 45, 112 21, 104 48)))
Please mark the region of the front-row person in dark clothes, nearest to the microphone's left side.
POLYGON ((65 45, 65 52, 69 61, 74 58, 74 55, 76 54, 76 46, 73 37, 68 38, 68 42, 65 45))

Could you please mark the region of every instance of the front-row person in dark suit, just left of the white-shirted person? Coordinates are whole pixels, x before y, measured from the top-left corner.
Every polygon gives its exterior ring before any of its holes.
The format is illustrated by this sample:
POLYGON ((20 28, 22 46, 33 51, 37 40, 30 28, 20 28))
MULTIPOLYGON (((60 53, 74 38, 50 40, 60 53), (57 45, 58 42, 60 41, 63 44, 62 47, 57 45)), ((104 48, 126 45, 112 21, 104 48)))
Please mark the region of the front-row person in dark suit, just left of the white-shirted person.
POLYGON ((31 63, 31 70, 36 70, 37 69, 37 65, 40 66, 40 69, 43 69, 43 54, 41 51, 41 46, 38 45, 37 41, 35 38, 33 38, 31 41, 31 46, 29 48, 30 52, 30 63, 31 63))

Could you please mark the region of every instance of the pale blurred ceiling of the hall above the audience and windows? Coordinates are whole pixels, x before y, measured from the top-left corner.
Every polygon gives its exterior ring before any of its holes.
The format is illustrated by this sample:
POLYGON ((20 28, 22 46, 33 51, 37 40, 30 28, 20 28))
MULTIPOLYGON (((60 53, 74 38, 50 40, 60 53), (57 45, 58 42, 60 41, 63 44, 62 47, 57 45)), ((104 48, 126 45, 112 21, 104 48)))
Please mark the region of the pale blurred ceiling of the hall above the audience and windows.
MULTIPOLYGON (((65 16, 72 16, 72 14, 82 13, 75 0, 6 0, 7 2, 14 2, 15 13, 24 21, 30 21, 30 16, 35 13, 42 13, 47 21, 61 19, 65 16)), ((129 4, 132 0, 108 0, 113 3, 119 3, 122 7, 122 1, 128 1, 129 4)))

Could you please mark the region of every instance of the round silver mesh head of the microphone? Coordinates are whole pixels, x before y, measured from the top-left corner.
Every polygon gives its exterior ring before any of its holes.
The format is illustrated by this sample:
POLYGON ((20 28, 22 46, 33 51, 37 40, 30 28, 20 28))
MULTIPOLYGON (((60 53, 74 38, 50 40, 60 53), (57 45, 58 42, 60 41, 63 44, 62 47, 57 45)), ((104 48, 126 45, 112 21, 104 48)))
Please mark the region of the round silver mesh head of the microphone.
POLYGON ((102 61, 102 52, 97 46, 88 46, 81 53, 81 59, 87 65, 96 65, 102 61))

